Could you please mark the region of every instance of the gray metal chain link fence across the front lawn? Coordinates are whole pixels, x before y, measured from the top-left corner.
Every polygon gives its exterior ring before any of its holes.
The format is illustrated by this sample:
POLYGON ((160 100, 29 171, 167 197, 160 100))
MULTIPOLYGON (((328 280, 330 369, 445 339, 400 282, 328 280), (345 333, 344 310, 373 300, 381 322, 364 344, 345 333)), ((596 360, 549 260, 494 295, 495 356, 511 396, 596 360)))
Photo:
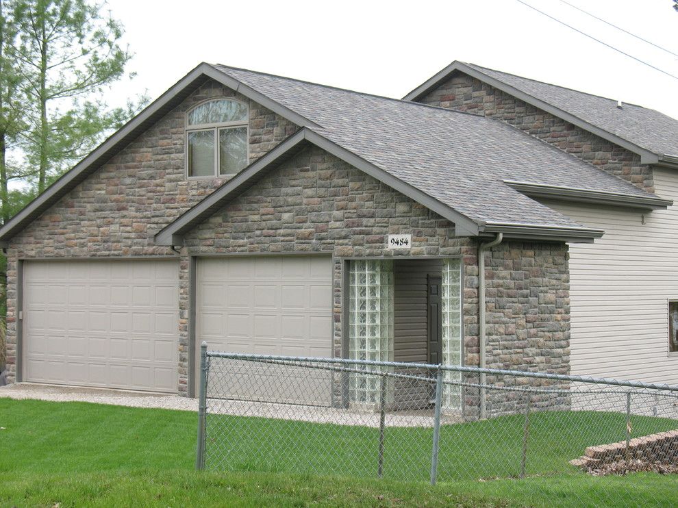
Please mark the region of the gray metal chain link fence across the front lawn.
POLYGON ((600 496, 581 505, 618 506, 662 504, 643 482, 678 472, 678 387, 204 348, 201 364, 197 468, 492 485, 532 505, 581 482, 600 496))

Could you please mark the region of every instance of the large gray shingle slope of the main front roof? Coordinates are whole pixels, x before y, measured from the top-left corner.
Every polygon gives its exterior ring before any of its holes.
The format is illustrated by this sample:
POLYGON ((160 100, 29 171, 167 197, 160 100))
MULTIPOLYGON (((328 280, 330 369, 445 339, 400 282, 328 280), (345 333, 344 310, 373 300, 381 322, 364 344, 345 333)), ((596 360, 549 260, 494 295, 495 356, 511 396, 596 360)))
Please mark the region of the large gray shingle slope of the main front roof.
POLYGON ((477 223, 581 227, 507 186, 651 194, 499 120, 215 66, 321 125, 318 134, 477 223))

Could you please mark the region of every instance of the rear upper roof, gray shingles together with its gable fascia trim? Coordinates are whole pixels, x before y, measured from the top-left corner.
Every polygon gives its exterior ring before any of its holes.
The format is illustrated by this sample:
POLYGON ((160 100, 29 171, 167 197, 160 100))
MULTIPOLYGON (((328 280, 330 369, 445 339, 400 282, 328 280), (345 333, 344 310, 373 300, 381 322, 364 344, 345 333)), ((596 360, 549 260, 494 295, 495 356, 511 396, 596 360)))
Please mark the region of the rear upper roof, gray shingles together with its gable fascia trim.
POLYGON ((641 156, 644 164, 673 163, 678 155, 678 120, 633 104, 543 83, 501 71, 453 62, 403 97, 416 101, 458 71, 641 156))

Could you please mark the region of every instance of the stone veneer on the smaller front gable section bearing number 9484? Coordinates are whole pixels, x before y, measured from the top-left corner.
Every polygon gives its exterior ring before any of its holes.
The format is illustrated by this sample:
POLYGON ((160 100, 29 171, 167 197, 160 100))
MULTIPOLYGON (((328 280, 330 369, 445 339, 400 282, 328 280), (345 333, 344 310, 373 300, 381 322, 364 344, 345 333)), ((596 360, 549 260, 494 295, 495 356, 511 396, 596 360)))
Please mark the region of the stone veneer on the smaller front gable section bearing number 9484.
MULTIPOLYGON (((189 255, 248 252, 333 256, 336 355, 342 354, 345 258, 461 257, 464 361, 479 362, 477 241, 454 238, 449 221, 321 149, 305 149, 186 236, 181 251, 183 351, 189 347, 189 255), (412 250, 385 249, 389 233, 412 233, 412 250)), ((568 373, 567 246, 510 241, 487 256, 488 366, 568 373)), ((477 404, 477 393, 468 390, 466 406, 477 404)), ((512 410, 505 398, 494 405, 497 411, 512 410)))

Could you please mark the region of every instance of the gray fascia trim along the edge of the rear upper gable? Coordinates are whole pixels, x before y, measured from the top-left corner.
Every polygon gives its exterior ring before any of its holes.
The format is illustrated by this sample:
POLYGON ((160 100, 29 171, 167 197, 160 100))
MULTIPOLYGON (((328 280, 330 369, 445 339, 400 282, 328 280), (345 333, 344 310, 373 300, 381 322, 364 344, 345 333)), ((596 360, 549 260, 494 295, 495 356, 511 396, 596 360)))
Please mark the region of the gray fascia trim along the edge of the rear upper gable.
POLYGON ((412 92, 405 95, 405 97, 403 97, 403 101, 418 101, 418 99, 420 99, 424 94, 435 88, 438 84, 440 84, 440 82, 444 81, 444 79, 447 79, 447 77, 449 77, 449 75, 451 75, 451 73, 454 71, 460 71, 470 75, 471 77, 479 79, 479 81, 484 81, 494 88, 506 92, 507 94, 510 94, 523 102, 538 107, 540 110, 551 113, 553 116, 562 118, 563 120, 566 120, 577 127, 581 127, 581 129, 589 131, 600 138, 617 144, 618 146, 625 148, 630 152, 636 153, 637 155, 640 155, 641 164, 656 164, 660 160, 660 154, 654 153, 648 149, 644 149, 643 147, 639 147, 635 143, 625 140, 624 138, 620 138, 616 134, 612 134, 605 129, 601 129, 600 127, 592 125, 591 123, 586 122, 586 120, 582 120, 581 118, 578 118, 577 116, 568 113, 565 110, 561 110, 560 108, 537 99, 536 97, 533 97, 522 90, 518 90, 518 88, 514 88, 513 86, 505 84, 503 81, 499 81, 499 79, 482 73, 481 71, 478 71, 477 69, 470 67, 463 62, 452 62, 447 67, 442 69, 442 71, 436 73, 433 77, 427 79, 427 81, 425 81, 423 84, 412 90, 412 92))

